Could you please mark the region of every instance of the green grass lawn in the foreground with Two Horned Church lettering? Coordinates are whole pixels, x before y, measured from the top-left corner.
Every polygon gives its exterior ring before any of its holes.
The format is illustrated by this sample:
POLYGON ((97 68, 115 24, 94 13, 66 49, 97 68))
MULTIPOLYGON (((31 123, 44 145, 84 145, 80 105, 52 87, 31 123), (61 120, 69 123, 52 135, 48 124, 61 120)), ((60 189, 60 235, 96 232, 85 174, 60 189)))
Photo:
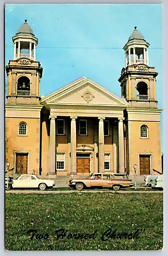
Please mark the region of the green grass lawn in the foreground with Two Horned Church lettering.
POLYGON ((6 250, 160 250, 160 193, 6 194, 6 250))

